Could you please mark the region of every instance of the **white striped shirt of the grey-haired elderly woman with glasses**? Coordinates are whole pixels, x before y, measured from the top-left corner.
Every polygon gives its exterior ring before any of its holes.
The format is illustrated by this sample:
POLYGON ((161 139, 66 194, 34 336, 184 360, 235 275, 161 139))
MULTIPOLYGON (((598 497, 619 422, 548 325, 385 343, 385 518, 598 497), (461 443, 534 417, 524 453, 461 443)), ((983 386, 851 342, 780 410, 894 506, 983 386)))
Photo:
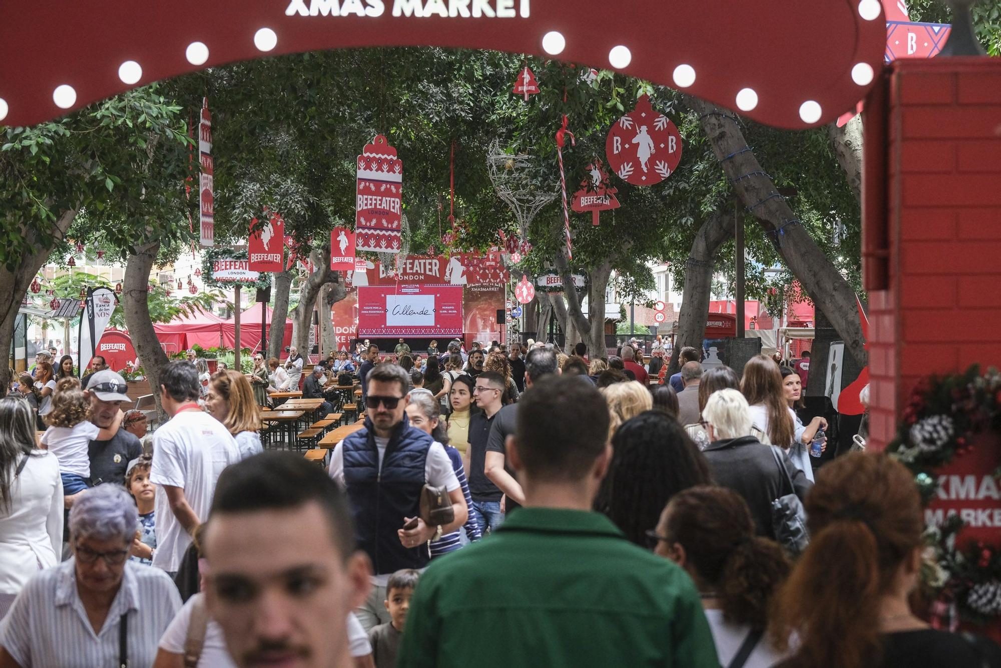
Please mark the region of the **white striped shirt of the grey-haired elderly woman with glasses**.
POLYGON ((125 562, 121 588, 99 633, 77 595, 75 559, 32 578, 0 623, 0 645, 23 668, 118 665, 118 634, 128 615, 127 659, 152 666, 160 636, 181 607, 173 581, 160 569, 125 562))

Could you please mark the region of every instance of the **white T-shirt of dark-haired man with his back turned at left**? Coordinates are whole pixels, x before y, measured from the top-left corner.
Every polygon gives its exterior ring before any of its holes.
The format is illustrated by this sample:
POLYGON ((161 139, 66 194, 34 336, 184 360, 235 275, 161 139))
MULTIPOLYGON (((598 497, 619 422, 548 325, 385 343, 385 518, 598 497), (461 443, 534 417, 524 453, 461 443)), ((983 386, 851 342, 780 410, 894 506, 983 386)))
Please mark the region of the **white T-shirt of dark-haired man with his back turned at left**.
MULTIPOLYGON (((161 487, 183 489, 191 510, 204 522, 215 481, 223 469, 239 459, 236 441, 222 423, 201 411, 184 411, 153 433, 149 480, 161 487)), ((177 571, 190 544, 191 537, 170 510, 166 492, 158 493, 153 566, 170 573, 177 571)))

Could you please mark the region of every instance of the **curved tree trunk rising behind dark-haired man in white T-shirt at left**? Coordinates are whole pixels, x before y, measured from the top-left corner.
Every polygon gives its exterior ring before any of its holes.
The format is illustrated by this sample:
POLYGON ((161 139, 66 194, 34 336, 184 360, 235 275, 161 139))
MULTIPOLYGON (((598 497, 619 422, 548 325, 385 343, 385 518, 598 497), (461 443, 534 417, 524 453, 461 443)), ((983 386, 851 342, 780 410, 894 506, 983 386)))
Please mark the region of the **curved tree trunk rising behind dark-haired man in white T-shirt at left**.
POLYGON ((166 414, 160 405, 160 374, 167 366, 167 356, 160 348, 153 329, 153 320, 149 317, 149 272, 156 261, 156 253, 160 242, 153 241, 136 247, 135 252, 128 256, 125 263, 125 278, 122 280, 122 306, 125 309, 125 323, 128 325, 129 337, 139 356, 149 387, 153 393, 156 410, 160 414, 160 423, 166 421, 166 414))

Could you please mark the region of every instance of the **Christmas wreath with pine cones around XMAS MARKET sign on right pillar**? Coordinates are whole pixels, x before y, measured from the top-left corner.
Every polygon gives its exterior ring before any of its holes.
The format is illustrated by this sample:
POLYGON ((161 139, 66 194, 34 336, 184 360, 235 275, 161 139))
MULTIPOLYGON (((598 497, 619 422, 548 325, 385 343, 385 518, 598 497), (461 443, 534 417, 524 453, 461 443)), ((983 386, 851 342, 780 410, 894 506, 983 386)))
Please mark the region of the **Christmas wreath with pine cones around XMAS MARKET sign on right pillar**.
MULTIPOLYGON (((991 368, 981 374, 974 365, 964 374, 922 381, 887 452, 914 473, 927 505, 936 493, 937 470, 969 453, 971 438, 985 431, 1001 431, 1001 373, 991 368)), ((1001 476, 1001 469, 993 475, 1001 476)), ((958 545, 964 526, 951 515, 926 532, 932 555, 922 580, 936 598, 934 621, 952 629, 960 621, 982 624, 1001 615, 1001 546, 958 545)))

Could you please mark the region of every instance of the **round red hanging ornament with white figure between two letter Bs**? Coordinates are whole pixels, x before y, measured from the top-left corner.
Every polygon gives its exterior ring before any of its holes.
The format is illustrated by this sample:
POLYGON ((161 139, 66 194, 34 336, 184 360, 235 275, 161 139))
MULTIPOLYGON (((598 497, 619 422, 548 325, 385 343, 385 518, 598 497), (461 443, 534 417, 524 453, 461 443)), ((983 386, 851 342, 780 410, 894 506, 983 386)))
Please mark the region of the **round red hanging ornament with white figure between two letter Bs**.
POLYGON ((654 185, 670 176, 682 159, 682 135, 671 119, 650 104, 650 96, 636 101, 636 109, 622 116, 605 140, 609 166, 633 185, 654 185))

